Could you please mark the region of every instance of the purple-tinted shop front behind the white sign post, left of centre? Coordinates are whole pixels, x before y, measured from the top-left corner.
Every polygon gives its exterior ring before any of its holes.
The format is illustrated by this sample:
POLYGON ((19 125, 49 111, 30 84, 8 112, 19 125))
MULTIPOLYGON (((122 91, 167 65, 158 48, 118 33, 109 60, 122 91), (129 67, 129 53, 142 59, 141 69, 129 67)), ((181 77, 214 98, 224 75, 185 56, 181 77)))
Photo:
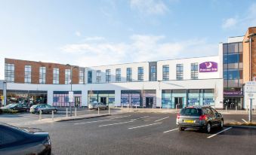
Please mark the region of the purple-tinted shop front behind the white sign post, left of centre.
MULTIPOLYGON (((72 107, 82 106, 82 91, 73 91, 73 102, 72 107)), ((69 91, 54 91, 53 106, 67 107, 69 106, 69 91)))

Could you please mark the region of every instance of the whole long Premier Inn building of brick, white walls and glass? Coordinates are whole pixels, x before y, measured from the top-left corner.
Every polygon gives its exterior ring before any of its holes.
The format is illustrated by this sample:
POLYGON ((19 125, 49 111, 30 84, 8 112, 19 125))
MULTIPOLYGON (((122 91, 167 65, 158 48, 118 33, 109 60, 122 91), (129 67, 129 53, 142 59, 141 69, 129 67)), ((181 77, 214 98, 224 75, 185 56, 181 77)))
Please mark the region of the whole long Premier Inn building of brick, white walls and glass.
POLYGON ((217 56, 93 67, 5 59, 6 102, 69 106, 72 90, 73 106, 246 108, 245 82, 256 79, 256 41, 246 40, 255 31, 228 38, 217 56))

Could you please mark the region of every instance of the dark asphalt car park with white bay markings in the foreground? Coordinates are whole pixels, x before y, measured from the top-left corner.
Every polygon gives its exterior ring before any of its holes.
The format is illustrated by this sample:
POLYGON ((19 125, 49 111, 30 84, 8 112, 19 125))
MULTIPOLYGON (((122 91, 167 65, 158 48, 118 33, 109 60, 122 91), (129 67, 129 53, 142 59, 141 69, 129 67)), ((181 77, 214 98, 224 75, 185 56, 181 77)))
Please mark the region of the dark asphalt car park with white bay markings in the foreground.
POLYGON ((176 114, 126 113, 29 127, 50 133, 53 154, 255 154, 256 129, 179 132, 175 121, 176 114))

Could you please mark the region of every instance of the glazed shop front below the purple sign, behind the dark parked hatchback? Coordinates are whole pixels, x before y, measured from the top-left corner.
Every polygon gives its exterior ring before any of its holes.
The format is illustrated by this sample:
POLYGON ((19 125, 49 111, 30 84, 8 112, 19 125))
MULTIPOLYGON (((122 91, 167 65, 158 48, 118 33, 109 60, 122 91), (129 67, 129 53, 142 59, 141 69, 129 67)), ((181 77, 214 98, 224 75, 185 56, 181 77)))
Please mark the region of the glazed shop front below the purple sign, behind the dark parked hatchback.
POLYGON ((214 106, 214 89, 162 90, 162 108, 184 108, 189 105, 214 106))

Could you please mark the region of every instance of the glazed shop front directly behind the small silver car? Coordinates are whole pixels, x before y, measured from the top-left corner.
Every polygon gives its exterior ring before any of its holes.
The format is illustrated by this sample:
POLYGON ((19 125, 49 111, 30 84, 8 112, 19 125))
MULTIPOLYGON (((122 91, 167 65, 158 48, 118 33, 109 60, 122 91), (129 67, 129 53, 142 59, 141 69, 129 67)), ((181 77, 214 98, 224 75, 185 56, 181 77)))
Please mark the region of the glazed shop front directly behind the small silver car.
POLYGON ((88 102, 115 105, 115 90, 88 90, 88 102))

